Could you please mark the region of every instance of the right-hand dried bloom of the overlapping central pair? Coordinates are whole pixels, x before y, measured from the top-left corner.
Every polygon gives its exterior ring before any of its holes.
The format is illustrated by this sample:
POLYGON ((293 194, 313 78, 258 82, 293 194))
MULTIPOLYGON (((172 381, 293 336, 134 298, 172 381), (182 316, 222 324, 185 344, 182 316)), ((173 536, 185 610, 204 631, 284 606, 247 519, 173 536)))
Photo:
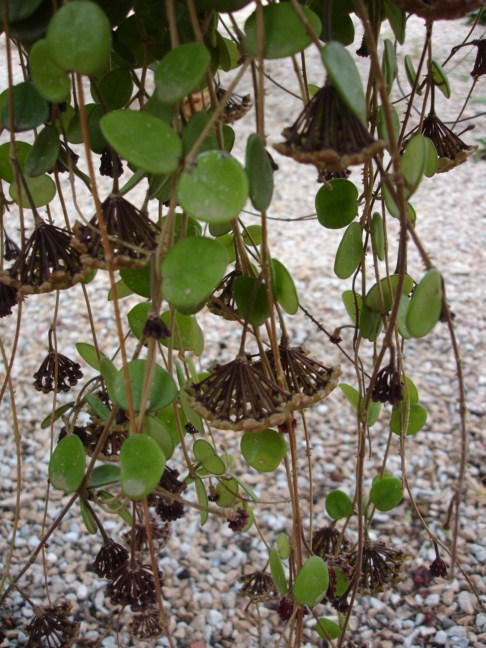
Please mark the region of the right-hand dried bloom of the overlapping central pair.
MULTIPOLYGON (((286 336, 278 347, 280 363, 292 394, 293 409, 309 407, 325 398, 337 385, 341 368, 325 367, 311 358, 302 347, 291 347, 286 336)), ((272 372, 276 373, 275 358, 270 349, 266 352, 272 372)), ((261 368, 261 364, 257 364, 261 368)))

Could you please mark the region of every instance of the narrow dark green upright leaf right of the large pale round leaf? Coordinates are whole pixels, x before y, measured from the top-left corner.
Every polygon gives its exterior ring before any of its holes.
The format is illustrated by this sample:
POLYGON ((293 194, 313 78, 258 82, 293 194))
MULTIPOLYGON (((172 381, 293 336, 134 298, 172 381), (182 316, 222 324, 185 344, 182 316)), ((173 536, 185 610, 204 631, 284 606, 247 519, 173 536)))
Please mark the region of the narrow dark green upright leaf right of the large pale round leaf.
POLYGON ((272 202, 273 170, 260 135, 253 133, 246 143, 245 171, 250 185, 250 199, 258 211, 266 211, 272 202))

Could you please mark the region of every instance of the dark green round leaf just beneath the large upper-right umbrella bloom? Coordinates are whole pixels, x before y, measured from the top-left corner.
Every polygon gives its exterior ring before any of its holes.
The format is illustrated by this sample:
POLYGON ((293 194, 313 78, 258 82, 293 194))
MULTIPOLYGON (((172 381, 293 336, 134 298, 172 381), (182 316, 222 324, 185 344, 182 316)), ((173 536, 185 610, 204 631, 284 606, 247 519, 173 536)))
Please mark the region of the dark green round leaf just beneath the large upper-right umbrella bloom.
POLYGON ((331 180, 316 194, 319 223, 329 229, 346 227, 358 213, 358 189, 344 178, 331 180))

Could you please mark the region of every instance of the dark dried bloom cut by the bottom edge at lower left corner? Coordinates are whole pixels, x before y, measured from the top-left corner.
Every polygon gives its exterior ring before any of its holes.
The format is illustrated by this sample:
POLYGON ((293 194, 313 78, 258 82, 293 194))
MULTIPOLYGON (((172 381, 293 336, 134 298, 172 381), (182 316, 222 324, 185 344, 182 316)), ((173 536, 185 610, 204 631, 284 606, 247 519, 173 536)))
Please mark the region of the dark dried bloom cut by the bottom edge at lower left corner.
POLYGON ((48 605, 35 609, 35 616, 25 631, 27 648, 69 648, 78 637, 79 622, 68 619, 71 603, 48 605))

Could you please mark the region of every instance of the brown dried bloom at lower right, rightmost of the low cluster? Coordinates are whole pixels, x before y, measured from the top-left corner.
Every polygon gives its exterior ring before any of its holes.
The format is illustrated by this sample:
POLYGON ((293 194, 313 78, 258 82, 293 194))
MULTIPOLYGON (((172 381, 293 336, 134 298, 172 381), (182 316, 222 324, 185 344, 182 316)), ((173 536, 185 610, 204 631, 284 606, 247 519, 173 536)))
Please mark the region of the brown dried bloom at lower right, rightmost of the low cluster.
MULTIPOLYGON (((384 542, 367 542, 363 548, 363 562, 359 588, 363 594, 375 595, 400 580, 403 569, 403 551, 387 547, 384 542)), ((358 552, 350 554, 350 565, 355 569, 358 552)))

